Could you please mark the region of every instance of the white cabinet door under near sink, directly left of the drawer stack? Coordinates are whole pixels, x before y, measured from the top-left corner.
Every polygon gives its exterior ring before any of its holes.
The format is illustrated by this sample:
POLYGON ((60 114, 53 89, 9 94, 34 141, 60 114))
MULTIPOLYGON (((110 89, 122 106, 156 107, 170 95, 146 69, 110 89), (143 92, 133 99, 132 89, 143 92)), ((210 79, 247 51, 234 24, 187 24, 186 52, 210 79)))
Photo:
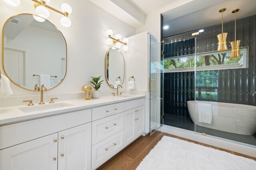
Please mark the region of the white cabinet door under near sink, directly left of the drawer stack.
POLYGON ((91 169, 91 123, 58 133, 58 170, 91 169))

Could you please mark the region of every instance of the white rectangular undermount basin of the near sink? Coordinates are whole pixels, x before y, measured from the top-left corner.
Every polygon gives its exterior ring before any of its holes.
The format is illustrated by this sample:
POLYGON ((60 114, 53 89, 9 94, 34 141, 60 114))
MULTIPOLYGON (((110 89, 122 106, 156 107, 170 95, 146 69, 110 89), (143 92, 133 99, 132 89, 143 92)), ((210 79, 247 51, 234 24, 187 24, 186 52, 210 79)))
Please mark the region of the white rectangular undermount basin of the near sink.
POLYGON ((57 109, 57 108, 68 107, 68 106, 74 106, 74 105, 67 104, 67 103, 54 103, 54 104, 44 104, 44 105, 37 105, 37 106, 20 107, 19 109, 25 113, 28 113, 28 112, 32 112, 32 111, 57 109))

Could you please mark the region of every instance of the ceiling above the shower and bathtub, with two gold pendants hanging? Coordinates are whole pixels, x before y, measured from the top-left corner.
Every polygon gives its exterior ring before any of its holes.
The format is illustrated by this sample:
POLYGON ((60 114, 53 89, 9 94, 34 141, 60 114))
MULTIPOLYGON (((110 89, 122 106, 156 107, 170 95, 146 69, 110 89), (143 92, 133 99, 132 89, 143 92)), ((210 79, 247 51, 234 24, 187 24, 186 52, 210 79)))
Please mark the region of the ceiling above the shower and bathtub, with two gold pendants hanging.
POLYGON ((189 14, 175 17, 169 20, 172 16, 176 15, 175 9, 172 11, 164 12, 164 25, 168 25, 169 29, 164 30, 164 37, 176 35, 196 29, 208 27, 221 23, 221 13, 219 10, 226 8, 223 13, 224 22, 234 20, 232 10, 240 8, 236 14, 237 19, 252 16, 256 14, 256 0, 225 0, 224 2, 191 12, 189 14), (172 15, 172 13, 174 13, 172 15))

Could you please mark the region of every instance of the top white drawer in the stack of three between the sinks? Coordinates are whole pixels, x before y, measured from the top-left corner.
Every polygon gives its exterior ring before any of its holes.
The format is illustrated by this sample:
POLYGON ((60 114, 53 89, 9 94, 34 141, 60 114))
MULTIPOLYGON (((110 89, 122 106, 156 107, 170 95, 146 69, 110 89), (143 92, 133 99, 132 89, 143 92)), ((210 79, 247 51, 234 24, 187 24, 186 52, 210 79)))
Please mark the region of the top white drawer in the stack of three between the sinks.
POLYGON ((92 121, 121 113, 124 111, 124 103, 110 104, 107 106, 92 108, 92 121))

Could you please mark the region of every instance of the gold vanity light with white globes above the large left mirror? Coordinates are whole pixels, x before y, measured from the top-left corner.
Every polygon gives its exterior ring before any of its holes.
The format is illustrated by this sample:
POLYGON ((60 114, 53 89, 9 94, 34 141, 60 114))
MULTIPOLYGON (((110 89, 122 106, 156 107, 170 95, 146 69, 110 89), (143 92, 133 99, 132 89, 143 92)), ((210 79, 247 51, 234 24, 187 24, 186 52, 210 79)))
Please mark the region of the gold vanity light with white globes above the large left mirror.
MULTIPOLYGON (((12 6, 18 6, 20 5, 20 0, 4 0, 7 4, 12 6)), ((36 8, 36 14, 38 16, 34 16, 34 19, 39 22, 44 22, 44 18, 49 18, 50 12, 48 9, 53 10, 55 12, 58 12, 59 14, 62 14, 63 17, 60 18, 60 23, 64 27, 70 27, 71 26, 71 20, 68 18, 68 15, 72 13, 72 8, 69 4, 63 3, 61 5, 61 11, 56 10, 55 8, 52 8, 51 6, 48 6, 47 4, 50 2, 50 0, 32 0, 35 2, 34 6, 36 8)))

